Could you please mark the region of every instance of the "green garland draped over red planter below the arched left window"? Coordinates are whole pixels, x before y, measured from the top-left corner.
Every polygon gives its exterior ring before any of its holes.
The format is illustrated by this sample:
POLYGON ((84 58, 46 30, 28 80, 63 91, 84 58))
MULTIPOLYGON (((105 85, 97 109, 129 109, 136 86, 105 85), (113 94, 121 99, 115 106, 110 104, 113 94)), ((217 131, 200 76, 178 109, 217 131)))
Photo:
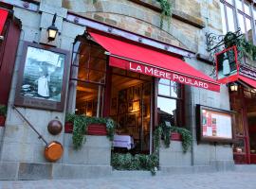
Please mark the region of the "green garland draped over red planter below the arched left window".
POLYGON ((73 145, 76 149, 82 147, 86 141, 85 134, 90 124, 105 124, 107 129, 107 137, 113 141, 116 123, 111 118, 89 117, 78 114, 67 114, 65 122, 73 123, 73 145))

